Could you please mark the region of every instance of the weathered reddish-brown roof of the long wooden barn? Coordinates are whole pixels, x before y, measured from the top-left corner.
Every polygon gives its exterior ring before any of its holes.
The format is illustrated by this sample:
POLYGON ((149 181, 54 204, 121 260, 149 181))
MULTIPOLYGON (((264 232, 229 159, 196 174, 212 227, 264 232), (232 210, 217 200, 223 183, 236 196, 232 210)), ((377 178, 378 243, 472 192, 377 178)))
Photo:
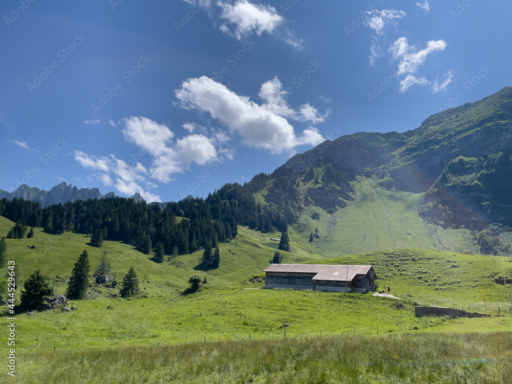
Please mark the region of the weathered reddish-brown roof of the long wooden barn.
POLYGON ((352 281, 356 275, 370 270, 373 270, 371 265, 270 264, 263 272, 315 273, 312 280, 352 281))

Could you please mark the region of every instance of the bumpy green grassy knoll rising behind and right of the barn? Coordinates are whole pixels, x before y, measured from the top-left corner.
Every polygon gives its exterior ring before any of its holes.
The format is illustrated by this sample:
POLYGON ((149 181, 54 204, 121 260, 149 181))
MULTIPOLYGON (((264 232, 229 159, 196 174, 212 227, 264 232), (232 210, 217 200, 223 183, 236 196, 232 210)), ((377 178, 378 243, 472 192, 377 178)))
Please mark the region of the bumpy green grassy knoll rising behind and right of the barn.
POLYGON ((505 269, 512 271, 511 258, 396 249, 342 256, 321 263, 372 264, 379 287, 390 285, 392 294, 412 295, 412 301, 428 305, 466 309, 470 306, 479 311, 487 307, 492 313, 497 312, 498 306, 508 312, 510 306, 505 287, 495 283, 495 279, 503 276, 505 269))

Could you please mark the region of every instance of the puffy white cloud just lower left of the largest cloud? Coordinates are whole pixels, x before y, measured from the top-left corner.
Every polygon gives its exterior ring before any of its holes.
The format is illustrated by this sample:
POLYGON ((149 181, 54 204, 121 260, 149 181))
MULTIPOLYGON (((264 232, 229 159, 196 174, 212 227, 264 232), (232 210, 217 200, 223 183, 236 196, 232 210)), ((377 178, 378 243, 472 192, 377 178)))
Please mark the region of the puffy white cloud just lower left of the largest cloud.
POLYGON ((170 175, 189 169, 191 163, 204 165, 217 157, 212 140, 204 135, 191 134, 174 142, 174 132, 148 118, 131 116, 123 123, 125 139, 153 156, 150 174, 164 183, 172 180, 170 175))

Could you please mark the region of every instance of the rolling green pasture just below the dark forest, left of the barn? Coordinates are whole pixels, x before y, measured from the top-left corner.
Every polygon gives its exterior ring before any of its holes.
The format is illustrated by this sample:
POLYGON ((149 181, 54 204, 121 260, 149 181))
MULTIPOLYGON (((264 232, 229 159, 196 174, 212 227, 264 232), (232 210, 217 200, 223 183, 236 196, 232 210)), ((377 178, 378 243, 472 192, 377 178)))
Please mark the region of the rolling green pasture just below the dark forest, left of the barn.
MULTIPOLYGON (((12 226, 14 223, 0 217, 0 234, 5 236, 12 226)), ((194 273, 201 273, 209 282, 218 285, 229 285, 244 276, 261 273, 269 265, 269 260, 279 245, 278 242, 270 241, 270 237, 279 236, 279 232, 264 236, 260 232, 240 227, 236 240, 219 245, 219 268, 208 271, 200 264, 202 251, 179 255, 166 263, 157 264, 151 260, 151 255, 144 255, 133 246, 106 241, 98 248, 89 244, 89 236, 71 232, 56 236, 36 228, 32 239, 6 241, 9 260, 16 262, 18 284, 37 268, 52 278, 57 274, 70 276, 79 254, 85 249, 89 253, 91 272, 99 264, 103 251, 106 251, 107 258, 112 264, 112 272, 119 281, 133 266, 140 282, 151 281, 152 287, 158 284, 166 288, 184 289, 189 276, 194 273), (32 245, 35 246, 34 249, 29 248, 32 245)), ((322 258, 320 254, 313 253, 313 246, 302 242, 293 230, 290 230, 290 238, 292 252, 285 252, 284 262, 294 263, 322 258)), ((65 287, 62 284, 59 291, 62 293, 65 287)), ((147 286, 147 289, 153 289, 152 287, 147 286)))

